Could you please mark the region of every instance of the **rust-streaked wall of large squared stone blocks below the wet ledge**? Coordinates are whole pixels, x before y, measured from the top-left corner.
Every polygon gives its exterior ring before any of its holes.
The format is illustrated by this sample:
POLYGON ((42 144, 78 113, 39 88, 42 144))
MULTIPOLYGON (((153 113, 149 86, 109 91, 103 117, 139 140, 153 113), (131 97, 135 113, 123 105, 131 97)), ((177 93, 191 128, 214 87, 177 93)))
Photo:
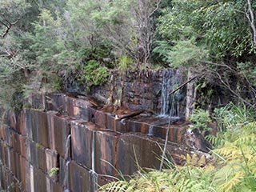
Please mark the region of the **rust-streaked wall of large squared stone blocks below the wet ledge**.
MULTIPOLYGON (((37 106, 6 114, 2 123, 1 189, 95 191, 97 183, 111 180, 108 175, 118 177, 116 170, 133 174, 138 170, 136 161, 141 167, 159 167, 165 118, 150 117, 146 122, 146 114, 141 114, 140 120, 124 122, 97 110, 90 98, 67 94, 41 95, 32 102, 37 106), (55 168, 58 171, 51 175, 55 168)), ((188 153, 187 147, 177 144, 182 142, 184 127, 183 122, 172 125, 169 138, 168 151, 178 164, 184 163, 180 155, 188 153)))

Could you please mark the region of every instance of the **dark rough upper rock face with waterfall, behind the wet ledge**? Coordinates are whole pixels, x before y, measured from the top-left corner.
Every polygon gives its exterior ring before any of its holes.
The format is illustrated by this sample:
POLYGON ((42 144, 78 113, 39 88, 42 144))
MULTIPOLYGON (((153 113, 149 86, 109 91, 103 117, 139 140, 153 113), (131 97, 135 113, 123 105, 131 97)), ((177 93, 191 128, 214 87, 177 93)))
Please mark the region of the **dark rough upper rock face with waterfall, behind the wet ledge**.
POLYGON ((150 110, 155 114, 171 114, 184 117, 186 108, 186 89, 174 95, 171 90, 185 82, 179 70, 147 70, 142 73, 130 73, 120 78, 113 73, 105 86, 94 87, 94 97, 109 99, 110 102, 120 100, 123 105, 133 110, 150 110), (121 93, 121 94, 120 94, 121 93))

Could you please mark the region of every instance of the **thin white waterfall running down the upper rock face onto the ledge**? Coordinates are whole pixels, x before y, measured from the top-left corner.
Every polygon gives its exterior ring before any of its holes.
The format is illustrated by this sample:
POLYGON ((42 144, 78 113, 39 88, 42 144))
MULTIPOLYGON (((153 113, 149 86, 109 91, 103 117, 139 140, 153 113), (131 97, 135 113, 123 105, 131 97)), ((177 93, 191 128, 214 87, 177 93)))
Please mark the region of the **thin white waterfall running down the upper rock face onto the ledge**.
POLYGON ((176 70, 163 70, 162 77, 162 95, 161 95, 161 113, 160 116, 171 116, 171 118, 180 117, 179 102, 175 95, 179 94, 179 90, 169 95, 181 82, 180 75, 176 70))

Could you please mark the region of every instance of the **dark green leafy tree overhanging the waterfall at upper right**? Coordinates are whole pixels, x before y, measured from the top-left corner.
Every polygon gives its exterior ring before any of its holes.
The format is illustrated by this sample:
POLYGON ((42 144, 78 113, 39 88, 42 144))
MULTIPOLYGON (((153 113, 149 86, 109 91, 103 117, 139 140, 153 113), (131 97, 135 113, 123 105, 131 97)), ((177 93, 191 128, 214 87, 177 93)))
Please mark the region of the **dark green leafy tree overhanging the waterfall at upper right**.
POLYGON ((171 1, 158 16, 153 51, 162 62, 186 66, 253 106, 256 52, 247 8, 240 0, 171 1))

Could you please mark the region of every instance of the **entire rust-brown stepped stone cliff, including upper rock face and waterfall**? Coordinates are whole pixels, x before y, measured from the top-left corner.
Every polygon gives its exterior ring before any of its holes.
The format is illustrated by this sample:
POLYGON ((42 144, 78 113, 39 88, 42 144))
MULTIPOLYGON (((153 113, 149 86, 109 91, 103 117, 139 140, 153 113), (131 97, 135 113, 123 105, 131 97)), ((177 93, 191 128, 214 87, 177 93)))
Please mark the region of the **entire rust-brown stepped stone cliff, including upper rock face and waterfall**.
POLYGON ((80 94, 33 95, 30 109, 4 115, 1 188, 95 191, 97 183, 111 180, 107 175, 118 177, 117 170, 126 175, 138 166, 158 169, 169 120, 167 153, 182 165, 181 154, 190 153, 182 145, 187 126, 182 120, 185 98, 176 102, 178 98, 168 96, 175 82, 170 81, 173 70, 157 73, 139 82, 126 78, 113 84, 112 80, 94 90, 102 101, 111 98, 108 105, 80 94), (118 99, 122 106, 117 108, 111 103, 118 99))

